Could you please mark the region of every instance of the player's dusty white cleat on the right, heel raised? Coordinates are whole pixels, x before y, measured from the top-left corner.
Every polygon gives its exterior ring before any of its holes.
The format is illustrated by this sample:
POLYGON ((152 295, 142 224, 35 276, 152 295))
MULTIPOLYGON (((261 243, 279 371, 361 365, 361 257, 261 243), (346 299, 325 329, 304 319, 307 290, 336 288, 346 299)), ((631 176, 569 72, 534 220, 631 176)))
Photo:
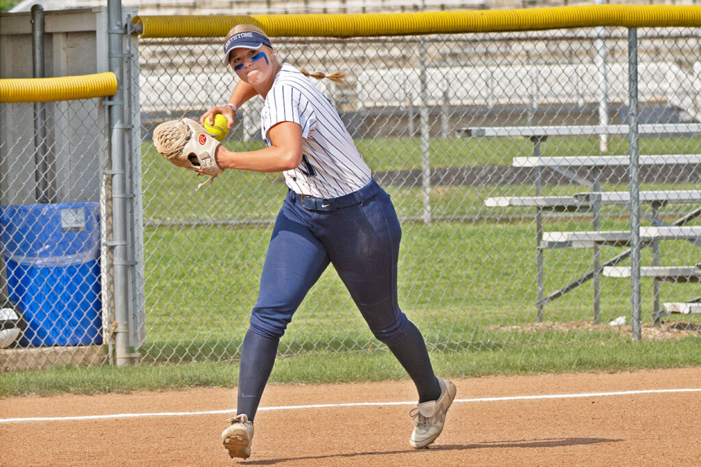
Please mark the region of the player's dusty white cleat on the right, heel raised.
POLYGON ((445 414, 455 398, 455 384, 447 379, 437 378, 440 384, 440 398, 416 405, 409 415, 416 419, 416 427, 411 433, 409 444, 416 449, 428 447, 443 431, 445 414))

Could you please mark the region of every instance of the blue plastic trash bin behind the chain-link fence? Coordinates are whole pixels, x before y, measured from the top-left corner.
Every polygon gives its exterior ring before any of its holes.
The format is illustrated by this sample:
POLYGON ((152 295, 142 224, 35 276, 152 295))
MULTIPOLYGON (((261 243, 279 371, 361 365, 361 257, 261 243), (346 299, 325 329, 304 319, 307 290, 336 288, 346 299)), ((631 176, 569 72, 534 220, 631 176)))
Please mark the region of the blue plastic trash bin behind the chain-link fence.
POLYGON ((8 295, 26 324, 20 345, 102 344, 98 204, 0 209, 8 295))

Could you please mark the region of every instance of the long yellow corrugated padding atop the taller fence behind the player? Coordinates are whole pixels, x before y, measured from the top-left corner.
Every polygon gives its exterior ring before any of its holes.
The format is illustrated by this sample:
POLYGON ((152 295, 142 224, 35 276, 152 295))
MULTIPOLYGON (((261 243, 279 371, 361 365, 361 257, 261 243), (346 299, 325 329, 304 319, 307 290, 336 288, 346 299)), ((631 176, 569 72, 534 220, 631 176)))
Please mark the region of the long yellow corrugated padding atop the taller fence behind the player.
POLYGON ((145 15, 132 19, 142 38, 223 37, 250 24, 271 37, 359 37, 508 32, 575 27, 700 27, 701 6, 587 5, 519 10, 363 15, 145 15))

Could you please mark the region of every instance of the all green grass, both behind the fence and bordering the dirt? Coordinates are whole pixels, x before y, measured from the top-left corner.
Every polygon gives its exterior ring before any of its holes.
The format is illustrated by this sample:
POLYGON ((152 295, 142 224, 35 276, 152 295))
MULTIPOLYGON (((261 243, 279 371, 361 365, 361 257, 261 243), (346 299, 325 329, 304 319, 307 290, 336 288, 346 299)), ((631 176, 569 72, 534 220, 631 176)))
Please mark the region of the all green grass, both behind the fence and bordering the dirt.
MULTIPOLYGON (((418 139, 360 140, 375 170, 421 167, 418 139)), ((260 141, 226 143, 243 150, 260 141)), ((693 153, 695 140, 642 139, 641 152, 693 153)), ((257 296, 258 279, 274 218, 286 191, 279 174, 232 172, 214 186, 194 191, 198 181, 171 167, 144 143, 143 188, 146 258, 147 341, 143 365, 114 368, 60 367, 0 374, 0 396, 26 393, 96 393, 235 386, 238 351, 257 296), (184 225, 183 222, 199 223, 184 225), (222 224, 222 222, 225 222, 222 224), (227 224, 228 222, 228 224, 227 224), (206 225, 210 223, 210 225, 206 225), (215 224, 216 223, 216 224, 215 224), (150 364, 147 364, 150 363, 150 364), (173 363, 181 363, 174 365, 173 363)), ((545 155, 597 154, 598 139, 549 139, 545 155)), ((434 167, 510 165, 531 155, 526 139, 432 139, 434 167)), ((627 141, 613 139, 611 153, 625 154, 627 141)), ((604 190, 627 190, 627 184, 604 190)), ((645 190, 695 188, 693 183, 646 184, 645 190)), ((504 329, 536 321, 536 250, 533 209, 490 209, 489 196, 532 196, 520 186, 439 186, 430 193, 434 216, 452 218, 428 225, 421 218, 421 188, 388 186, 402 223, 398 277, 402 310, 421 329, 437 372, 451 377, 531 372, 618 371, 701 365, 700 337, 630 342, 606 327, 592 330, 504 329), (492 216, 483 221, 480 216, 492 216), (463 221, 460 221, 463 219, 463 221)), ((545 195, 585 191, 576 185, 546 186, 545 195)), ((673 207, 663 211, 672 221, 673 207)), ((601 228, 629 228, 625 207, 606 207, 601 228)), ((545 216, 545 230, 590 230, 590 215, 545 216)), ((645 223, 645 222, 644 222, 645 223)), ((601 249, 604 261, 623 248, 601 249)), ((665 242, 665 265, 697 258, 688 242, 665 242)), ((587 272, 588 249, 544 251, 545 292, 587 272)), ((641 261, 651 264, 651 249, 641 261)), ((688 284, 662 284, 662 299, 693 295, 688 284)), ((652 283, 642 283, 644 323, 651 321, 652 283)), ((585 284, 545 307, 545 321, 592 320, 592 285, 585 284)), ((630 284, 601 278, 601 322, 629 316, 630 284)), ((381 350, 332 268, 302 303, 280 344, 273 383, 376 381, 405 378, 381 350), (342 352, 337 352, 342 351, 342 352)))

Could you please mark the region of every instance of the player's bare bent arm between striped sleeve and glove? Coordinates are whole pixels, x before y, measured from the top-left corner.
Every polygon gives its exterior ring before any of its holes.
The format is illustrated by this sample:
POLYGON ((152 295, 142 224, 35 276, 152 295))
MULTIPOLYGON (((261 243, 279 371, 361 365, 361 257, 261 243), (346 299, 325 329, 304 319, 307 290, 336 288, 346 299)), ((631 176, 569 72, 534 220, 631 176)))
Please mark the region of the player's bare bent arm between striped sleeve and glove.
POLYGON ((296 169, 302 161, 302 127, 294 122, 280 122, 270 130, 271 146, 257 151, 235 152, 224 146, 217 149, 217 164, 222 169, 284 172, 296 169))

